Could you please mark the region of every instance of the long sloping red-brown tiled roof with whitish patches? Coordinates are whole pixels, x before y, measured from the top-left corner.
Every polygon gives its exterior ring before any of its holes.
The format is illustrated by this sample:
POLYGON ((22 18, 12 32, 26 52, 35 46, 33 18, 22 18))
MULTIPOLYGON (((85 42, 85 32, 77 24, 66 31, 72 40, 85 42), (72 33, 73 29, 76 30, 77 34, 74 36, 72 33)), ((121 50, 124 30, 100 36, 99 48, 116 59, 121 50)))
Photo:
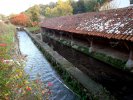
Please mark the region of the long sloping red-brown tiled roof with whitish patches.
POLYGON ((41 27, 133 42, 133 7, 49 18, 41 27))

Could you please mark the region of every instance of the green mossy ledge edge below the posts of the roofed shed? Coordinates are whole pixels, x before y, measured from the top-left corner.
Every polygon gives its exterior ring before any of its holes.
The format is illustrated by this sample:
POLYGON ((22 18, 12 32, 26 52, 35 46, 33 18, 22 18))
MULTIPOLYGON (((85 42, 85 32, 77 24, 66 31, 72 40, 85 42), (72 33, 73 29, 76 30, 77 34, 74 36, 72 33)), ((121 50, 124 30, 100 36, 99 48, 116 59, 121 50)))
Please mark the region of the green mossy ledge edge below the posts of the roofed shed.
MULTIPOLYGON (((48 38, 51 38, 47 35, 48 38)), ((87 54, 97 60, 100 60, 104 63, 107 63, 115 68, 118 68, 118 69, 122 69, 122 70, 126 70, 125 69, 125 64, 126 64, 126 61, 122 61, 120 59, 117 59, 117 58, 112 58, 111 56, 108 56, 106 54, 103 54, 103 53, 99 53, 99 52, 93 52, 93 53, 89 53, 89 47, 85 47, 85 46, 80 46, 78 44, 75 44, 75 43, 71 43, 70 41, 67 41, 67 40, 64 40, 64 39, 61 39, 61 40, 58 40, 56 38, 51 38, 52 40, 55 40, 63 45, 66 45, 68 47, 71 47, 77 51, 80 51, 84 54, 87 54)))

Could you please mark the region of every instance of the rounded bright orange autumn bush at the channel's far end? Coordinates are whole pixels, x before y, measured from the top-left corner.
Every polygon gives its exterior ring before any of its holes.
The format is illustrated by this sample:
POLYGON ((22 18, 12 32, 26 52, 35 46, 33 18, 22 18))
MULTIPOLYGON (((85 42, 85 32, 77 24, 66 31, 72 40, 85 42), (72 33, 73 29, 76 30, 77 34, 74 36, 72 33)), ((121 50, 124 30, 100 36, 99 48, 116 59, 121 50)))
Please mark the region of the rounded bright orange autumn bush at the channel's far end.
POLYGON ((10 21, 14 25, 27 26, 30 23, 30 19, 26 14, 18 14, 10 18, 10 21))

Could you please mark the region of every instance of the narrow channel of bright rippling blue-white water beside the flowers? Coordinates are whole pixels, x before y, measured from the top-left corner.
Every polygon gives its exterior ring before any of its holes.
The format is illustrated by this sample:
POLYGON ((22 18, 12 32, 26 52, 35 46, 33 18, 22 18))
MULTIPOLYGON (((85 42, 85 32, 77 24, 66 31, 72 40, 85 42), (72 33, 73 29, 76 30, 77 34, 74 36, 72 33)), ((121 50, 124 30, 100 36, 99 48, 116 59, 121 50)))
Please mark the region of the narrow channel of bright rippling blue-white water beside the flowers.
POLYGON ((24 31, 19 31, 18 38, 21 53, 27 55, 25 71, 29 74, 30 80, 35 80, 39 75, 45 85, 48 85, 49 82, 53 84, 50 87, 49 100, 79 100, 79 97, 63 83, 30 37, 24 31))

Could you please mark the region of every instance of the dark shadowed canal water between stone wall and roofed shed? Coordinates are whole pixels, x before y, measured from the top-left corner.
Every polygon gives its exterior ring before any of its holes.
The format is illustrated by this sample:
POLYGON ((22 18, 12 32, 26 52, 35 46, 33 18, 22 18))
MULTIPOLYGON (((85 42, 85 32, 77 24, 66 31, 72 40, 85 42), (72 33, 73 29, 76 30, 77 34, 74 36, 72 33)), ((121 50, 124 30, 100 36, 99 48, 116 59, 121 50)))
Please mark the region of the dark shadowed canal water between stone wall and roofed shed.
POLYGON ((95 82, 105 87, 117 100, 133 100, 132 73, 114 68, 48 36, 44 35, 43 41, 95 82))

